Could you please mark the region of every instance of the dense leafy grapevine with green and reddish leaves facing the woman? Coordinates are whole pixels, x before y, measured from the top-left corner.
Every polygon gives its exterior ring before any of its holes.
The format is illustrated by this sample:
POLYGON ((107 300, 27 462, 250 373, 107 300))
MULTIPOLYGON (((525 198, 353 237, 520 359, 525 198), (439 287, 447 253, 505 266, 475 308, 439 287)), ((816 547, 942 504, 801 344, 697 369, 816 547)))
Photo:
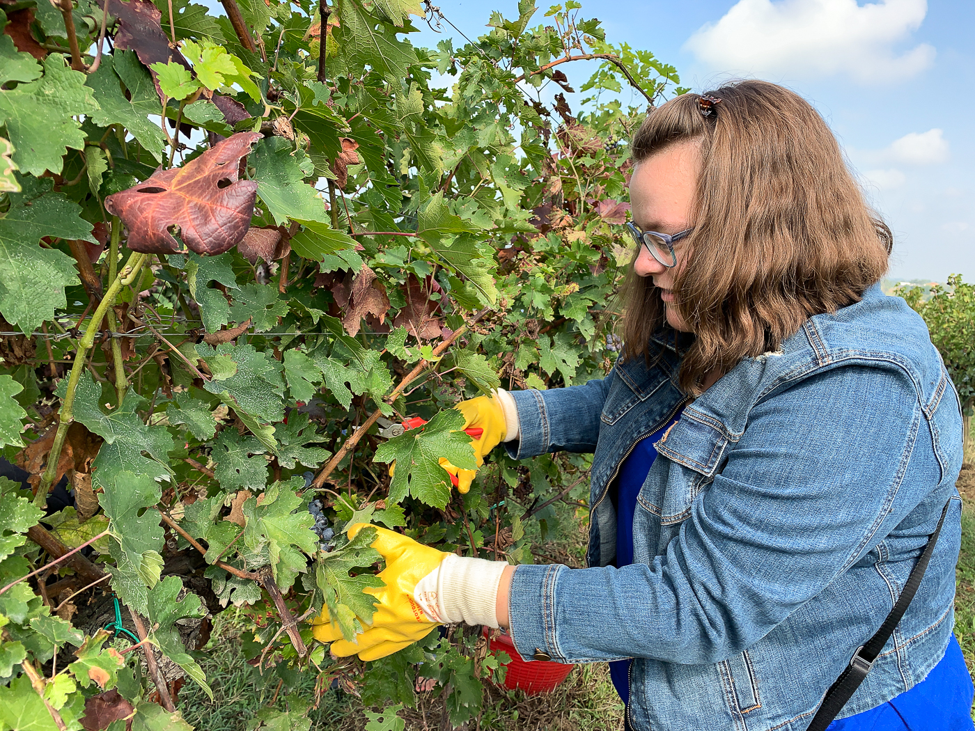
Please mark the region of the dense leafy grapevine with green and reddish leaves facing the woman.
POLYGON ((345 527, 528 562, 586 495, 583 456, 498 450, 460 495, 422 455, 473 464, 462 399, 608 371, 626 140, 675 69, 574 0, 436 49, 418 0, 221 4, 0 12, 0 731, 190 728, 230 606, 262 672, 322 678, 307 707, 335 681, 395 713, 423 663, 463 723, 479 635, 372 664, 312 638, 370 622, 345 527))

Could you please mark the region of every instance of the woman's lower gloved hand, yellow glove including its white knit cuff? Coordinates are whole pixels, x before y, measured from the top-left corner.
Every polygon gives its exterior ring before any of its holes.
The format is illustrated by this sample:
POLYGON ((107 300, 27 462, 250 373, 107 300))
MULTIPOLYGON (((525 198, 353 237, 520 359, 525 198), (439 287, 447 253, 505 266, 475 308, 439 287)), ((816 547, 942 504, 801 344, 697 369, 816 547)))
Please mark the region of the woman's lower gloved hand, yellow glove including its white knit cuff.
MULTIPOLYGON (((349 537, 367 527, 356 523, 349 537)), ((315 638, 331 642, 338 657, 358 654, 377 660, 422 639, 442 624, 466 622, 497 627, 494 602, 505 561, 461 558, 417 543, 392 530, 376 529, 372 548, 382 554, 386 567, 379 573, 382 588, 364 590, 377 604, 370 626, 354 642, 342 637, 328 610, 312 622, 315 638)))

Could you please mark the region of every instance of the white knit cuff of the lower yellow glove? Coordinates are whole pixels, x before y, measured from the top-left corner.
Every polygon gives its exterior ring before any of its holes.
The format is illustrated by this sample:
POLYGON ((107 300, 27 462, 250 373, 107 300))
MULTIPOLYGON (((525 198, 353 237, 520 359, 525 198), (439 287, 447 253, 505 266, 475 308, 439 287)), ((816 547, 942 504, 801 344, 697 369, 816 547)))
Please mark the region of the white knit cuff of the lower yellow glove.
POLYGON ((449 554, 416 583, 413 598, 431 622, 499 627, 495 612, 497 587, 507 561, 449 554))

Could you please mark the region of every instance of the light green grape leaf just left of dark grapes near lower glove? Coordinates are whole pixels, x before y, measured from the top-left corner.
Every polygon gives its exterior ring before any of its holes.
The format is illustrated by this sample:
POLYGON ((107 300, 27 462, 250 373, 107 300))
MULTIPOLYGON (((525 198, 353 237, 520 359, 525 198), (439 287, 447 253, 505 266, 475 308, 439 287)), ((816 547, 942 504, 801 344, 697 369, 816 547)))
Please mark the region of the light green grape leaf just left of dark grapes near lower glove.
POLYGON ((252 553, 267 551, 274 579, 282 592, 291 588, 298 573, 307 570, 308 559, 294 547, 309 556, 318 550, 318 536, 311 530, 315 519, 295 494, 304 485, 301 477, 274 482, 259 498, 251 497, 244 503, 247 519, 244 545, 252 553))

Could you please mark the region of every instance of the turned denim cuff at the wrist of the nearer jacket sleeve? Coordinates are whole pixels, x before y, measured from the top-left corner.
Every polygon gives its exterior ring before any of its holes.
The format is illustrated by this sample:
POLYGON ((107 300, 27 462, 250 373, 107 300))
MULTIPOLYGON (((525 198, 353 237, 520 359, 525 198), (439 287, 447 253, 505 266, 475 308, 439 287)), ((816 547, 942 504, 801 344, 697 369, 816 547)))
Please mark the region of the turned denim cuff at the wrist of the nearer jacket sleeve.
POLYGON ((515 568, 508 596, 508 634, 525 660, 566 662, 556 639, 555 590, 559 576, 568 570, 558 564, 515 568))

